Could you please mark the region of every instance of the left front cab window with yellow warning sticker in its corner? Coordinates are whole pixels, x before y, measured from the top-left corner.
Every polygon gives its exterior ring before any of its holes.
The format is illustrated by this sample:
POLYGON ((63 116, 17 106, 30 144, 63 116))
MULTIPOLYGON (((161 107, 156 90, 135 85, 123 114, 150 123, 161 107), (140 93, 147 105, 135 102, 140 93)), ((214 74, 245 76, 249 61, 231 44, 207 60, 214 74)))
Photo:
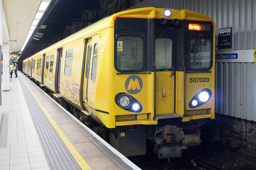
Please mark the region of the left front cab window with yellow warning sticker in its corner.
POLYGON ((143 40, 137 36, 120 36, 116 40, 116 66, 119 70, 141 70, 143 40))

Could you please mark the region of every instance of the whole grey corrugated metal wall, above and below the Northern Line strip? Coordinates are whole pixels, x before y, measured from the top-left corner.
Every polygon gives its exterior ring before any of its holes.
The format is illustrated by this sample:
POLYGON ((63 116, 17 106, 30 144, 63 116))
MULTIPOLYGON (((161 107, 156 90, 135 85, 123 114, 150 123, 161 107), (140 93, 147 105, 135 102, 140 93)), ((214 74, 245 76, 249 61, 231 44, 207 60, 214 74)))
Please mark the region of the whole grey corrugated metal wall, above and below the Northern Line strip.
MULTIPOLYGON (((211 17, 219 28, 232 27, 232 49, 256 49, 256 0, 145 0, 130 9, 189 9, 211 17)), ((216 63, 215 112, 256 121, 256 63, 216 63), (241 104, 242 105, 241 105, 241 104)))

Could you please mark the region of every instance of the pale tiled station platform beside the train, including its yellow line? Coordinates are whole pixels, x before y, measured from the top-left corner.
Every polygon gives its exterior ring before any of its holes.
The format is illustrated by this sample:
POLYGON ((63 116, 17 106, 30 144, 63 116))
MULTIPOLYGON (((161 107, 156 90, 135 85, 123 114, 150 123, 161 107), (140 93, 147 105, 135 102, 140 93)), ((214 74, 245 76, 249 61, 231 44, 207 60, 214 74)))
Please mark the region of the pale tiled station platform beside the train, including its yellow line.
POLYGON ((1 170, 140 170, 20 71, 0 111, 1 170))

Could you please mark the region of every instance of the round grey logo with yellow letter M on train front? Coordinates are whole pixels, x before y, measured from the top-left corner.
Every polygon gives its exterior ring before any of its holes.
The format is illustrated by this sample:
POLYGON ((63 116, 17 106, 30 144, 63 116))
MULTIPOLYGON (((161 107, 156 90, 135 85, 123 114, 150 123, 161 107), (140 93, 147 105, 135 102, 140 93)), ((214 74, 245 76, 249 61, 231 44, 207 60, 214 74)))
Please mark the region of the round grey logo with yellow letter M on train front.
POLYGON ((125 80, 124 86, 128 93, 137 94, 142 89, 143 82, 139 76, 132 75, 125 80))

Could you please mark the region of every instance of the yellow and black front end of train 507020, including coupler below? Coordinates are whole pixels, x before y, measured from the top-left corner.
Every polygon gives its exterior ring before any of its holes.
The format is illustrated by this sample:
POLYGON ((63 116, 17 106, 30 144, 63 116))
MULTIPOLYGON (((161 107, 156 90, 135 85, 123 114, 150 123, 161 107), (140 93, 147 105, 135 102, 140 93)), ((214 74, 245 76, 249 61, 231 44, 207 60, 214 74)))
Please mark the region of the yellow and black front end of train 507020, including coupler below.
POLYGON ((114 25, 116 148, 127 133, 132 151, 147 138, 159 158, 180 157, 214 118, 214 22, 189 10, 144 8, 120 13, 114 25))

